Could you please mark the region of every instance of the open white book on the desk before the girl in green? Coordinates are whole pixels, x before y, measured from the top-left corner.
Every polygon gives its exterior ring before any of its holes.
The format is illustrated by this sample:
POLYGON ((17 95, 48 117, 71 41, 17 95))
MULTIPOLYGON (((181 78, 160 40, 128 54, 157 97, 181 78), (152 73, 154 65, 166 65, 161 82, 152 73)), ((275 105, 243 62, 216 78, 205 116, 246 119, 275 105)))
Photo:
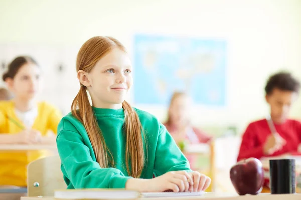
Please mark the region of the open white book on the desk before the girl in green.
POLYGON ((54 191, 54 199, 137 199, 155 197, 200 196, 205 192, 138 192, 125 189, 67 189, 54 191))

